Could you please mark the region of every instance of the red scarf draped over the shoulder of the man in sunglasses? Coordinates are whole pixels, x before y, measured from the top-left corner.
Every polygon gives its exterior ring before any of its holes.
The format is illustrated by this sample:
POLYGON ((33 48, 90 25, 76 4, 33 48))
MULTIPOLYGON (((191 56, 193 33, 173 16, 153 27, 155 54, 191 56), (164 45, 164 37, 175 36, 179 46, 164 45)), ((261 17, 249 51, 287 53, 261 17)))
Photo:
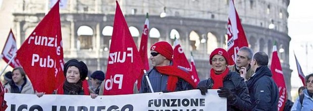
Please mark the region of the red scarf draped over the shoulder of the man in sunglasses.
POLYGON ((193 88, 197 87, 197 85, 193 82, 191 78, 191 74, 188 74, 187 72, 179 69, 177 66, 155 66, 154 68, 158 72, 169 76, 167 83, 168 91, 175 91, 178 77, 187 81, 189 84, 192 85, 193 88))

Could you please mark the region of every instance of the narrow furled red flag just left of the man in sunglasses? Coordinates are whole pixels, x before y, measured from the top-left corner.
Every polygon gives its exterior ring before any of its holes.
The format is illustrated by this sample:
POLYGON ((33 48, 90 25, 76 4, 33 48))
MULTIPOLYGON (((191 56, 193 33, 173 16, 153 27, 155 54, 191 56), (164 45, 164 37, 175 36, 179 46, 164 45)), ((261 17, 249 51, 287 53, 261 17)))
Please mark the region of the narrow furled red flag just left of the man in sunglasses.
MULTIPOLYGON (((148 62, 148 57, 147 57, 147 47, 148 47, 148 35, 149 35, 149 20, 148 20, 148 13, 146 15, 146 19, 144 22, 144 26, 143 26, 143 30, 142 30, 142 35, 141 35, 141 41, 140 41, 140 47, 139 47, 139 54, 142 60, 142 64, 143 67, 146 71, 149 70, 149 62, 148 62)), ((142 79, 142 74, 143 72, 141 72, 141 76, 139 76, 139 78, 137 79, 137 87, 138 90, 140 89, 141 86, 141 79, 142 79)))

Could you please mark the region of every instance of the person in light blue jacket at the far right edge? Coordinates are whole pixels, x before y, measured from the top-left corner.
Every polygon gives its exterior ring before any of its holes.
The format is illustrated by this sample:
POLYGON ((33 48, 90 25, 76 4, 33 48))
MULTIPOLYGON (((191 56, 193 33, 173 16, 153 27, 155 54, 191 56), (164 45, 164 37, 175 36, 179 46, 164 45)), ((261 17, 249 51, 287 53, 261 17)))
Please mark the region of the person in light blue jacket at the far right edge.
POLYGON ((295 110, 308 110, 313 111, 313 73, 305 76, 306 88, 302 91, 302 94, 294 101, 291 108, 295 110))

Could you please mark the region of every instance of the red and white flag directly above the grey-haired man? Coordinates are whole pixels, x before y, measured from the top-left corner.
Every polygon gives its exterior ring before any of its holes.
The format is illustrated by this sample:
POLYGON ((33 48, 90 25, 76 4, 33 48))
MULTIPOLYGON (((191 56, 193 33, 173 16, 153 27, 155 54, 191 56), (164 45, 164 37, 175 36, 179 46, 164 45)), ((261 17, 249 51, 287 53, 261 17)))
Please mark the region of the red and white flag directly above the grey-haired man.
POLYGON ((240 23, 240 19, 238 16, 238 13, 234 6, 234 1, 231 0, 229 2, 229 15, 228 15, 228 25, 227 25, 227 52, 230 56, 231 61, 229 62, 229 65, 235 64, 235 51, 238 52, 238 50, 241 47, 248 47, 248 42, 246 35, 244 34, 242 25, 240 23))

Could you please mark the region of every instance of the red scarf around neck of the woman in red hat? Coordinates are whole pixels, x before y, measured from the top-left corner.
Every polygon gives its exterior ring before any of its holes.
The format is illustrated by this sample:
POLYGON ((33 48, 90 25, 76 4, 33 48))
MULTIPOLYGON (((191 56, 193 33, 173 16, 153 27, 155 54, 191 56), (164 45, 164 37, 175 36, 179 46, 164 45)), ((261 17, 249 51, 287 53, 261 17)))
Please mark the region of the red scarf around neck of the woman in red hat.
POLYGON ((212 68, 211 69, 211 78, 213 79, 213 89, 218 89, 220 87, 223 87, 223 80, 224 78, 226 77, 226 75, 228 74, 229 72, 229 68, 226 67, 226 70, 224 72, 222 72, 221 74, 216 74, 214 72, 214 69, 212 68))

